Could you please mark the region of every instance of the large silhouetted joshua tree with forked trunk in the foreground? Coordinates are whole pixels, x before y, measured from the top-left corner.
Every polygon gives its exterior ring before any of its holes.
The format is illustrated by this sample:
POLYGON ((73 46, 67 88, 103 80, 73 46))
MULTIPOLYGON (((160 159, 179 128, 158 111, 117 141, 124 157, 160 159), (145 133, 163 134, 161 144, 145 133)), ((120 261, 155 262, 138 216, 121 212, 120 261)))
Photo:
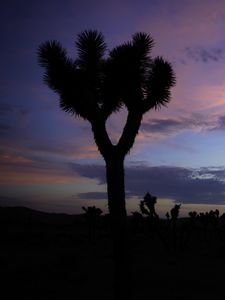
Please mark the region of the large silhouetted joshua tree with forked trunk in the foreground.
POLYGON ((108 206, 114 232, 116 273, 124 261, 126 223, 124 158, 134 144, 144 113, 170 101, 175 75, 170 63, 150 56, 153 39, 136 33, 131 41, 106 55, 100 32, 78 34, 76 59, 67 57, 58 41, 38 49, 45 68, 44 81, 60 97, 60 107, 90 122, 95 143, 106 164, 108 206), (128 110, 121 137, 114 145, 106 131, 106 120, 122 107, 128 110))

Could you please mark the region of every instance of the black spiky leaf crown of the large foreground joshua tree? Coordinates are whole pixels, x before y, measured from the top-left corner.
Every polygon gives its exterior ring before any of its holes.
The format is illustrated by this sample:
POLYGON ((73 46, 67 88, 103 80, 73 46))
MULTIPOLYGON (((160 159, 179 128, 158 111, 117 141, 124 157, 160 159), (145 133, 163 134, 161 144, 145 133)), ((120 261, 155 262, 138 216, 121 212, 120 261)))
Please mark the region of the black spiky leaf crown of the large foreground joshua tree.
POLYGON ((38 49, 44 81, 60 95, 63 110, 89 121, 106 120, 123 105, 128 111, 144 113, 169 102, 175 76, 168 62, 151 58, 150 35, 136 33, 108 56, 104 37, 97 31, 80 33, 75 45, 75 60, 67 57, 57 41, 38 49))

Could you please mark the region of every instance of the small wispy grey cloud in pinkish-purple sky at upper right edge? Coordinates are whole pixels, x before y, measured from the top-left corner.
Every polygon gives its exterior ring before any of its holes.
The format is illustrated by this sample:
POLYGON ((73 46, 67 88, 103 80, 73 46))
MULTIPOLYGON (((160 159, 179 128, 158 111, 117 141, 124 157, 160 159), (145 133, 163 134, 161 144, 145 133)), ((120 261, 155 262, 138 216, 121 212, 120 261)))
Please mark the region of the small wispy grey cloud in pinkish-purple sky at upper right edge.
POLYGON ((184 51, 189 59, 203 63, 218 62, 224 59, 225 53, 221 48, 203 49, 201 47, 186 47, 184 51))

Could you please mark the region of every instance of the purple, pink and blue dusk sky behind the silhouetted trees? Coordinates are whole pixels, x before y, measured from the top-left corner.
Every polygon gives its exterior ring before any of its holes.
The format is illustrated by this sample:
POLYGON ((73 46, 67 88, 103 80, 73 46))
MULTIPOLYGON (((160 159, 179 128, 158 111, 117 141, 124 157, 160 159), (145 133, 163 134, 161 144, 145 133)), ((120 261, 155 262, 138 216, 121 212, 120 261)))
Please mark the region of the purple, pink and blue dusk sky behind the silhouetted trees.
MULTIPOLYGON (((170 61, 177 83, 168 107, 144 115, 127 156, 128 213, 146 192, 161 216, 225 212, 225 0, 28 1, 1 4, 0 205, 107 212, 104 161, 88 122, 59 108, 43 83, 37 48, 58 40, 76 58, 76 36, 97 29, 109 49, 150 34, 153 56, 170 61)), ((125 109, 107 123, 113 142, 125 109)))

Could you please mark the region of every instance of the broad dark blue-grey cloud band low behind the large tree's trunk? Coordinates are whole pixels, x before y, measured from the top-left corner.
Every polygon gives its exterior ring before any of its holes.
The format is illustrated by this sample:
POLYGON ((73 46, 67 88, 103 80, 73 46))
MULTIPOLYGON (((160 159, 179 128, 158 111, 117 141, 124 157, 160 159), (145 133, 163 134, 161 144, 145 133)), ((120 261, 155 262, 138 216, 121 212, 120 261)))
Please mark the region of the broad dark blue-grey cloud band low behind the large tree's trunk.
MULTIPOLYGON (((104 166, 73 164, 72 168, 84 177, 97 179, 99 184, 106 183, 104 166)), ((223 168, 128 166, 125 181, 129 197, 143 197, 149 191, 158 197, 170 198, 182 203, 221 204, 225 202, 225 169, 223 168)), ((91 193, 79 196, 100 199, 103 194, 91 193)))

